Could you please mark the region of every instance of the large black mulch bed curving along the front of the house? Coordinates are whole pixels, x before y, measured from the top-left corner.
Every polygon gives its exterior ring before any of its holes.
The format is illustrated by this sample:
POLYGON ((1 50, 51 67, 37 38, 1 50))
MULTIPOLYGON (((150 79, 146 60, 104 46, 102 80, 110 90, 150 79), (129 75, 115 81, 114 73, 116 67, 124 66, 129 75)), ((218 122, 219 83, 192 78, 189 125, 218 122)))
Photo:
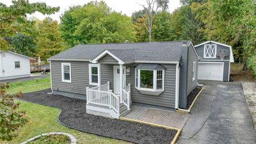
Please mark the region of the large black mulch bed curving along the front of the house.
POLYGON ((133 143, 168 143, 173 140, 177 131, 95 116, 86 113, 86 100, 72 99, 61 95, 48 95, 51 90, 24 93, 22 100, 60 108, 59 121, 83 132, 116 138, 133 143))

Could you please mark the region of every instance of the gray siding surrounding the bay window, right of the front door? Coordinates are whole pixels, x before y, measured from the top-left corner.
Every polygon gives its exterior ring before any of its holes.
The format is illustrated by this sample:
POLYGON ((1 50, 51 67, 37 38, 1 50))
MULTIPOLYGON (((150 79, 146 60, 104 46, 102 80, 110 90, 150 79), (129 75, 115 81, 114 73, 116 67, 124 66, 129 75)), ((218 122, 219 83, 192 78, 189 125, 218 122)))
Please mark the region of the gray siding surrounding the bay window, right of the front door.
POLYGON ((131 67, 131 75, 126 76, 126 81, 127 84, 131 83, 132 102, 175 108, 176 65, 163 65, 166 67, 164 72, 164 92, 157 96, 142 94, 135 88, 135 69, 133 66, 126 65, 126 67, 131 67))

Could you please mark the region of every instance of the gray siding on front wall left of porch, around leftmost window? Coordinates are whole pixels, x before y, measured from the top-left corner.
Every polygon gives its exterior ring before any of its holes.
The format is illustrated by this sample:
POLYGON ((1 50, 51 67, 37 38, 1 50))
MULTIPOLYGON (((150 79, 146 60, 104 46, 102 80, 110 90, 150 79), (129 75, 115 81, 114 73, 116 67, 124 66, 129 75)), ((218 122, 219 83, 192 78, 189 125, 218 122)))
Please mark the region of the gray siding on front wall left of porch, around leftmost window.
POLYGON ((85 61, 51 61, 52 90, 86 95, 89 85, 88 62, 85 61), (62 82, 61 63, 70 63, 71 83, 62 82))

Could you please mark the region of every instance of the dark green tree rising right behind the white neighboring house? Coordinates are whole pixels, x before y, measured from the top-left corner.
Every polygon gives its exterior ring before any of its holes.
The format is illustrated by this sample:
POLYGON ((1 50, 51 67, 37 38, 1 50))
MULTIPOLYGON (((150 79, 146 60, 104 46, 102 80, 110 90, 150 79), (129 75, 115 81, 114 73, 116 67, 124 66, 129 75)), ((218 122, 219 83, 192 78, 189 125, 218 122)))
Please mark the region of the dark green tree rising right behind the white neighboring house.
POLYGON ((25 56, 34 56, 36 49, 34 36, 27 36, 18 33, 18 35, 8 38, 8 43, 14 47, 13 50, 15 52, 25 56))

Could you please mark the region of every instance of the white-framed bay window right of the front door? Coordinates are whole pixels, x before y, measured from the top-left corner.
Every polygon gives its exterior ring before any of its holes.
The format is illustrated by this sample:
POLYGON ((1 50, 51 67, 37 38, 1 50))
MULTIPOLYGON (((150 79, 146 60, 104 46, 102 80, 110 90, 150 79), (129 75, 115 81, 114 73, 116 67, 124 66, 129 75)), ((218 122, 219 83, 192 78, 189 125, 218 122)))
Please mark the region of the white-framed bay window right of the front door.
POLYGON ((138 90, 163 91, 164 70, 135 70, 135 86, 138 90))

